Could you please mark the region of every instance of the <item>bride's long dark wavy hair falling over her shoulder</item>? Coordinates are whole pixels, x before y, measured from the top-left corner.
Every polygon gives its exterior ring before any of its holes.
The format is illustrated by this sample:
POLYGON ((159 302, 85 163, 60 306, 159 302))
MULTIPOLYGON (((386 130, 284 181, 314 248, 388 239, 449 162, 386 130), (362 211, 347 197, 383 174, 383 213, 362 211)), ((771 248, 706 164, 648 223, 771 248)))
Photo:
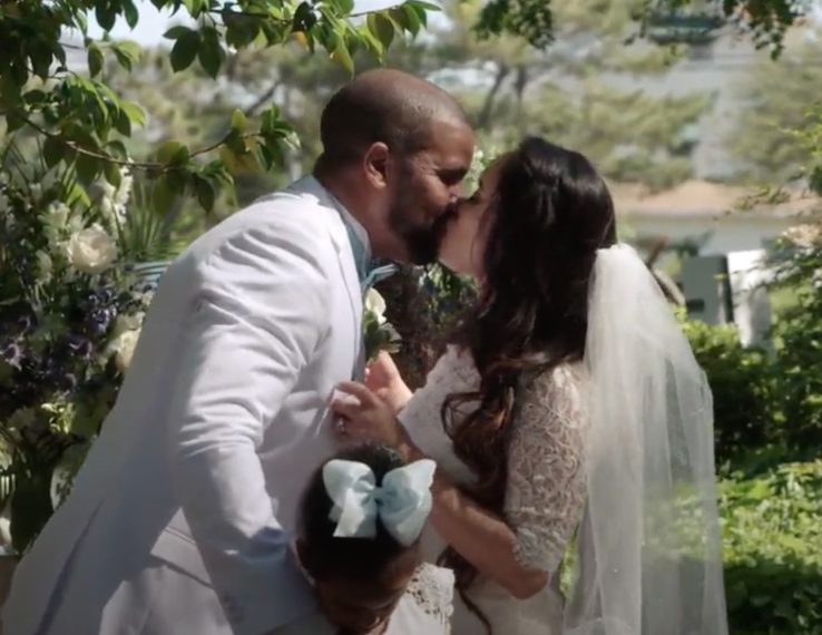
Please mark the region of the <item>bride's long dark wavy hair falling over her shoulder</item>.
MULTIPOLYGON (((469 494, 503 517, 518 398, 540 374, 583 359, 591 271, 597 250, 616 242, 616 224, 605 182, 579 153, 530 137, 501 160, 481 221, 482 290, 451 340, 471 353, 481 381, 477 392, 449 395, 442 419, 479 477, 469 494)), ((453 549, 441 561, 456 570, 461 593, 476 579, 453 549)))

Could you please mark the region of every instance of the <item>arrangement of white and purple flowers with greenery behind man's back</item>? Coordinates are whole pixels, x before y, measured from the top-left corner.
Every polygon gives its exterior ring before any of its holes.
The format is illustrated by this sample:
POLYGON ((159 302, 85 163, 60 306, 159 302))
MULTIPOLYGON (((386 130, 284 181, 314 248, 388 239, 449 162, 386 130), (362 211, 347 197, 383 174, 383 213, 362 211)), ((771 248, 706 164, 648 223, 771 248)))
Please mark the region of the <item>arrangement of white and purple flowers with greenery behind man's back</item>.
POLYGON ((88 190, 65 164, 0 153, 0 473, 23 553, 59 502, 53 475, 114 404, 150 292, 124 243, 131 177, 88 190))

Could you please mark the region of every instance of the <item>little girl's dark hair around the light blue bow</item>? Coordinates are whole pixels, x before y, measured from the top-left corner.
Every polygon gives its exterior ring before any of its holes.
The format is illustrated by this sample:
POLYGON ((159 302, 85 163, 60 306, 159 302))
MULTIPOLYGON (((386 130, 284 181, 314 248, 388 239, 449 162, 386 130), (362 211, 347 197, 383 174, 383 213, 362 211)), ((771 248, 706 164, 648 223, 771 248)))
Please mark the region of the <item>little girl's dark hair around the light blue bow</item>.
MULTIPOLYGON (((405 465, 394 449, 380 443, 365 443, 346 449, 334 457, 365 463, 374 472, 376 485, 385 473, 405 465)), ((300 535, 303 541, 303 566, 317 579, 344 576, 349 579, 373 582, 380 579, 397 560, 417 545, 404 547, 376 520, 374 538, 335 538, 336 522, 330 514, 333 502, 325 490, 323 466, 314 472, 303 494, 300 515, 300 535)))

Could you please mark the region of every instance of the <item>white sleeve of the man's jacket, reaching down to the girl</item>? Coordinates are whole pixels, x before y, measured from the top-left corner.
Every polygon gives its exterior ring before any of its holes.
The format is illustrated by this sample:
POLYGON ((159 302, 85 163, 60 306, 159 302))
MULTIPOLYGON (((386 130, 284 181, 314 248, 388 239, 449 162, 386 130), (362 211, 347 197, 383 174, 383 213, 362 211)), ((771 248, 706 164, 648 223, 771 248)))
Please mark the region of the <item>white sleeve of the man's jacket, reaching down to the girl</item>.
POLYGON ((329 329, 321 237, 296 222, 229 236, 199 265, 184 325, 173 486, 237 635, 313 610, 256 449, 329 329))

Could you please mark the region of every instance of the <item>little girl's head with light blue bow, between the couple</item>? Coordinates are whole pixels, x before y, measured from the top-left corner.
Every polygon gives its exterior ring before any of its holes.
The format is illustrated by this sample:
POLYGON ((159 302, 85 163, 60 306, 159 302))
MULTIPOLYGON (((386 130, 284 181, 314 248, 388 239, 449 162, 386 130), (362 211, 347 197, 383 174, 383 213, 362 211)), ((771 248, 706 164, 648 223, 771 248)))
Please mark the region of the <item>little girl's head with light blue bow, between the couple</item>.
POLYGON ((433 463, 364 444, 321 466, 301 509, 300 560, 323 612, 351 633, 386 619, 420 565, 433 463))

